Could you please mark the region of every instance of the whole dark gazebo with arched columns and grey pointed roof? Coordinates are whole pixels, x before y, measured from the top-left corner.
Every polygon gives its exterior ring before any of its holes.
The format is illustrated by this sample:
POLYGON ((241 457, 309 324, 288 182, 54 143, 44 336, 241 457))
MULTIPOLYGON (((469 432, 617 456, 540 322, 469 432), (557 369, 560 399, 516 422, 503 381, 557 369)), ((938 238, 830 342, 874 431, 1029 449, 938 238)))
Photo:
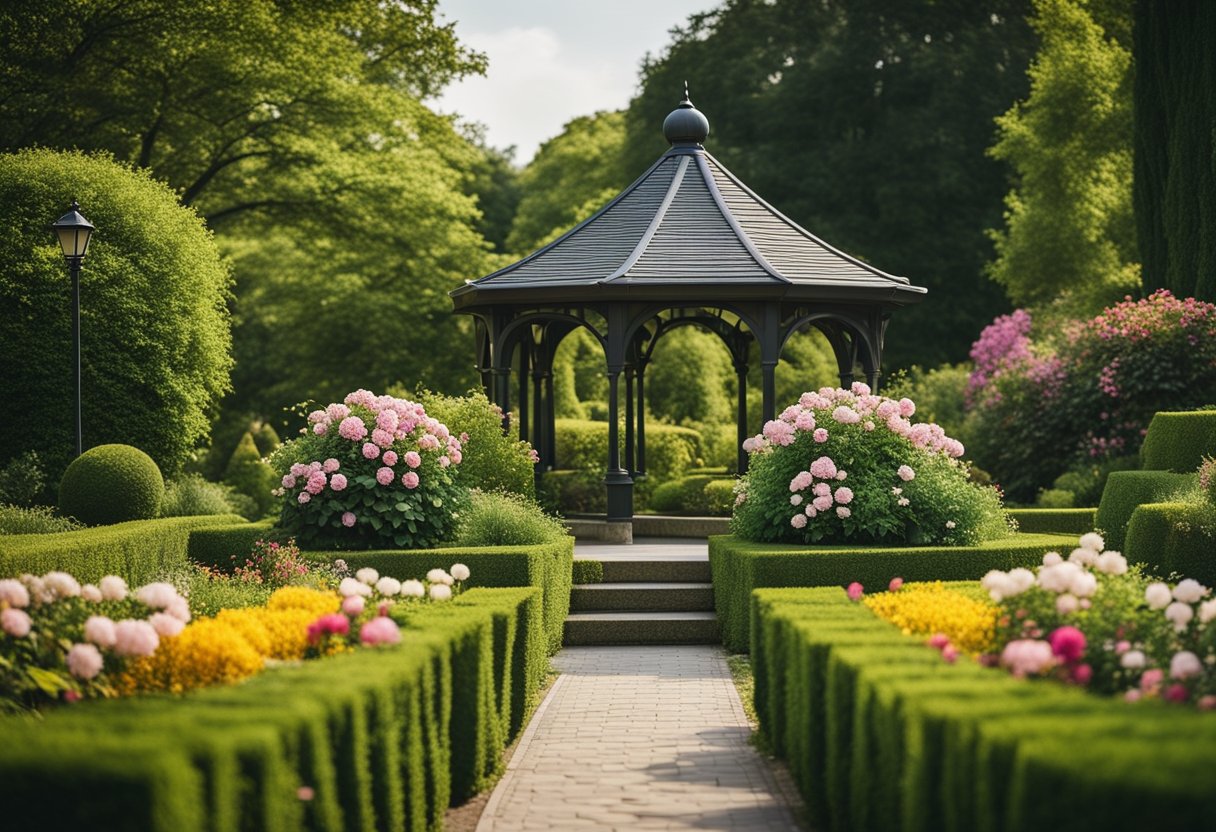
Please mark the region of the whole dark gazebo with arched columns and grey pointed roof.
MULTIPOLYGON (((702 145, 709 122, 687 90, 663 122, 663 134, 670 150, 596 214, 451 293, 455 310, 475 320, 478 370, 505 425, 518 395, 519 437, 540 454, 537 477, 557 461, 552 370, 558 344, 584 327, 603 347, 609 524, 632 522, 634 480, 646 474, 646 367, 664 333, 699 326, 730 350, 738 377, 742 473, 753 343, 765 421, 776 414, 782 347, 809 326, 832 345, 841 384, 852 383, 860 367, 877 390, 891 313, 925 294, 906 277, 833 248, 741 182, 702 145)), ((627 528, 621 536, 629 536, 627 528)))

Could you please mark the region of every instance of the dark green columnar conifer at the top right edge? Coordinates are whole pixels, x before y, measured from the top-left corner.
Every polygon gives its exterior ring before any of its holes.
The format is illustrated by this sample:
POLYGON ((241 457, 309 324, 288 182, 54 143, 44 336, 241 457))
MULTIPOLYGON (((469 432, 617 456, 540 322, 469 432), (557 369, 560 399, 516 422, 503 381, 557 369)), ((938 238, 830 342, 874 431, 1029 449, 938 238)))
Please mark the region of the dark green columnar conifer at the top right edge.
POLYGON ((1144 288, 1216 300, 1216 4, 1136 0, 1136 241, 1144 288))

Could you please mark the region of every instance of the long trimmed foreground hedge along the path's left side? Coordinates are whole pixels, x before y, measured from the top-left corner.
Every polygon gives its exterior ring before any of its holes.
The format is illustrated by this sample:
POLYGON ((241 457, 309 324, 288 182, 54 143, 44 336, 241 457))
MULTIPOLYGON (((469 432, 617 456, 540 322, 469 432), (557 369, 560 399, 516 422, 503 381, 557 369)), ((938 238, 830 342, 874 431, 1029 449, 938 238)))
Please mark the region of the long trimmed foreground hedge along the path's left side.
POLYGON ((522 724, 505 703, 525 701, 517 688, 535 692, 542 673, 516 662, 544 651, 536 603, 535 589, 471 590, 411 615, 399 647, 182 697, 0 719, 5 820, 40 830, 438 828, 452 796, 497 769, 512 737, 503 726, 522 724))

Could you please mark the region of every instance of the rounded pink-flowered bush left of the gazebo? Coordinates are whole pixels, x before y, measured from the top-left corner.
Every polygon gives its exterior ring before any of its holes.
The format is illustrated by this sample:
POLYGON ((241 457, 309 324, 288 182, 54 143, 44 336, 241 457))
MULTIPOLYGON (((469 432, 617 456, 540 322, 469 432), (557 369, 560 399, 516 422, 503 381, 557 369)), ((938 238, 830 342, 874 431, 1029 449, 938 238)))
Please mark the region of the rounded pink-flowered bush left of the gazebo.
POLYGON ((280 524, 308 546, 426 549, 454 534, 461 439, 422 405, 355 390, 275 451, 280 524))

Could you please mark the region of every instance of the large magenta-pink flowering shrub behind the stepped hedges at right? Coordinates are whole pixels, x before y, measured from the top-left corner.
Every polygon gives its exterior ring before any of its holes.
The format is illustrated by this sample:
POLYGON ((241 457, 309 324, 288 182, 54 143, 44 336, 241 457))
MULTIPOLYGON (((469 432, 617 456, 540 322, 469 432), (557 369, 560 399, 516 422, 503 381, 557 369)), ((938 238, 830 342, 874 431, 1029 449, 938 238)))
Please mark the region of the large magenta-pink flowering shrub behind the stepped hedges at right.
POLYGON ((976 461, 1013 499, 1080 462, 1135 454, 1166 403, 1216 400, 1216 305, 1161 289, 1030 343, 1029 315, 1015 316, 973 348, 968 417, 976 461))

